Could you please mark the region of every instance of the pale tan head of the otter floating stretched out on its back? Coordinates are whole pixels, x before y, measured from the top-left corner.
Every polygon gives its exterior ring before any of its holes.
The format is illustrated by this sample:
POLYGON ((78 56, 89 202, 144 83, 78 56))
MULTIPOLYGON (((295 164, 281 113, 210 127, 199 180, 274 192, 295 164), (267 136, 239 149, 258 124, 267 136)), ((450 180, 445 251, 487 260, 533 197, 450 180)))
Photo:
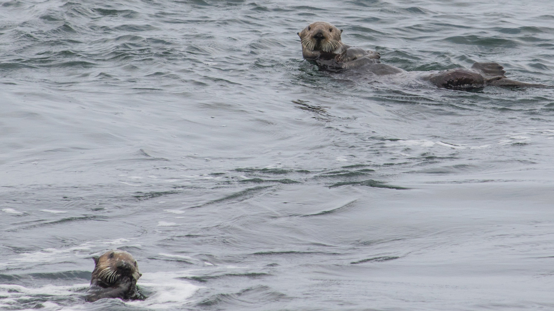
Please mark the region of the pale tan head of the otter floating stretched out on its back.
POLYGON ((297 33, 302 49, 332 53, 341 46, 342 30, 327 22, 315 22, 297 33))

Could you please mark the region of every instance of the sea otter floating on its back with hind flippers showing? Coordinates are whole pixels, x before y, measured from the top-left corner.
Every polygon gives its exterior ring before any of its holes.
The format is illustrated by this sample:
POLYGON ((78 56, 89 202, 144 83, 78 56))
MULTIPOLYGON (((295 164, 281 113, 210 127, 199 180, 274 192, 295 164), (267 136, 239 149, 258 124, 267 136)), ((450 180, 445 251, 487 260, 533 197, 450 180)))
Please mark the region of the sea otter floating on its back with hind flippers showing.
MULTIPOLYGON (((381 64, 377 52, 366 51, 346 45, 341 41, 342 30, 327 22, 315 22, 307 25, 298 33, 302 44, 304 59, 317 65, 321 70, 341 71, 361 68, 375 75, 392 75, 404 70, 381 64)), ((471 69, 456 68, 434 72, 422 76, 422 79, 439 87, 448 89, 473 89, 486 85, 502 87, 545 87, 542 84, 530 84, 506 79, 506 71, 496 63, 475 63, 471 69)))

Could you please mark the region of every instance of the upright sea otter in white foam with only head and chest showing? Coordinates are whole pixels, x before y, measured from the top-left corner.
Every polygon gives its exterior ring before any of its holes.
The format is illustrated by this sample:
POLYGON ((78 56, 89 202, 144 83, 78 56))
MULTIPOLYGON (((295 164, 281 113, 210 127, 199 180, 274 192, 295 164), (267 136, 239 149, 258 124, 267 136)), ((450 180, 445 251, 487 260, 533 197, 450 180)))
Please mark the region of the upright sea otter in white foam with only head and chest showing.
POLYGON ((102 298, 123 300, 144 300, 136 283, 142 274, 136 260, 130 253, 111 250, 100 257, 93 257, 94 271, 90 287, 86 291, 86 301, 94 302, 102 298))

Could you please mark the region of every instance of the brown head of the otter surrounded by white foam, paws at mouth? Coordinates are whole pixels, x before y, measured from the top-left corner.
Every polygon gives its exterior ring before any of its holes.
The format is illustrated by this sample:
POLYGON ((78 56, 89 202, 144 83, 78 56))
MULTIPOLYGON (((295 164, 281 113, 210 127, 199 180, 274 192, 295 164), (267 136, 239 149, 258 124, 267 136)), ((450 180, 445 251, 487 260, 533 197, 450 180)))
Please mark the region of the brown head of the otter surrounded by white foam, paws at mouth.
POLYGON ((90 284, 112 287, 119 282, 136 284, 142 274, 133 256, 126 251, 111 250, 94 257, 94 271, 90 284))

